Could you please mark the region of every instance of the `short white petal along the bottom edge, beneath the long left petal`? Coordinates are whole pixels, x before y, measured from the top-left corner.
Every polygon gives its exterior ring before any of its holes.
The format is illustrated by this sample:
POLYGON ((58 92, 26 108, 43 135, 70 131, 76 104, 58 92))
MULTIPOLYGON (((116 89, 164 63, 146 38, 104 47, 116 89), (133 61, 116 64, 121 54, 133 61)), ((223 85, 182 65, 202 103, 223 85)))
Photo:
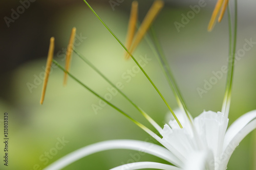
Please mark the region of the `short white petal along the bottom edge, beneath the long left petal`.
POLYGON ((114 167, 110 170, 135 170, 135 169, 144 169, 144 168, 150 168, 150 169, 163 169, 163 170, 182 170, 179 167, 167 165, 163 163, 157 163, 157 162, 134 162, 134 163, 128 163, 121 166, 114 167))

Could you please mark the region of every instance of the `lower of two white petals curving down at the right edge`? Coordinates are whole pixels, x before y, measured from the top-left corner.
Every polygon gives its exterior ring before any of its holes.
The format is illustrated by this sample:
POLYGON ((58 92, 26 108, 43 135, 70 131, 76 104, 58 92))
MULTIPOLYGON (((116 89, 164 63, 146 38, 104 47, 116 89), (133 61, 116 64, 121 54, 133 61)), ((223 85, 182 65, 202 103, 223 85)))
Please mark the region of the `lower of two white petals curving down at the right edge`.
POLYGON ((236 136, 232 138, 232 140, 228 143, 226 149, 222 153, 222 156, 219 160, 219 162, 221 162, 220 169, 226 169, 227 163, 232 153, 234 152, 234 149, 236 149, 238 144, 244 139, 244 137, 254 129, 256 129, 256 119, 252 120, 239 133, 237 133, 236 136))

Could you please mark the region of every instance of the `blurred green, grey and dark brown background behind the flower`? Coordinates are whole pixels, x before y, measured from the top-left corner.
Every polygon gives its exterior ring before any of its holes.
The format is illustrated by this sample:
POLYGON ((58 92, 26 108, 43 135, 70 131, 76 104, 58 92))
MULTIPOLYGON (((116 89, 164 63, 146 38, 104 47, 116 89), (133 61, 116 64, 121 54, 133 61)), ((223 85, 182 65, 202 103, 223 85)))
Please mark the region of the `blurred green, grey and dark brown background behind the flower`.
MULTIPOLYGON (((23 1, 22 1, 23 2, 23 1)), ((107 25, 125 42, 127 23, 132 1, 88 1, 107 25)), ((139 19, 142 21, 153 1, 139 0, 139 19)), ((231 3, 233 1, 230 1, 231 3)), ((212 71, 221 70, 227 64, 228 29, 227 15, 215 29, 207 32, 207 25, 216 1, 205 1, 195 17, 180 28, 182 14, 191 11, 190 5, 199 1, 165 1, 165 7, 154 22, 160 43, 173 69, 187 107, 193 116, 204 109, 220 111, 225 88, 225 77, 218 80, 207 93, 198 94, 205 81, 214 76, 212 71)), ((72 79, 62 86, 63 72, 52 70, 44 105, 39 104, 42 80, 50 37, 55 37, 55 59, 64 65, 63 56, 69 41, 71 29, 77 28, 77 35, 83 37, 76 50, 86 56, 114 83, 123 83, 123 92, 150 114, 157 123, 166 123, 167 108, 157 92, 141 72, 131 81, 122 77, 135 66, 132 60, 124 60, 124 50, 102 26, 86 4, 81 0, 42 1, 36 0, 7 26, 4 17, 11 18, 12 9, 17 11, 19 1, 1 1, 1 82, 0 82, 0 126, 3 139, 4 112, 9 113, 9 166, 0 169, 41 169, 62 156, 86 145, 109 139, 148 140, 149 136, 123 115, 109 106, 95 112, 93 105, 99 100, 72 79), (86 37, 86 38, 85 38, 86 37), (33 84, 30 88, 28 85, 33 84), (55 148, 58 139, 64 138, 66 145, 47 158, 45 154, 55 148), (38 166, 38 167, 37 167, 38 166)), ((243 48, 245 39, 256 41, 254 10, 256 3, 239 1, 239 26, 237 49, 243 48)), ((79 42, 79 41, 77 41, 79 42)), ((256 47, 246 52, 236 62, 233 93, 230 109, 230 123, 242 114, 256 109, 256 47)), ((172 108, 177 108, 173 93, 161 72, 161 68, 145 41, 134 53, 152 60, 144 69, 159 87, 172 108)), ((111 86, 100 78, 75 54, 71 72, 99 94, 108 93, 111 86)), ((150 127, 139 113, 120 95, 113 96, 114 104, 150 127)), ((155 142, 155 141, 153 141, 155 142)), ((256 169, 256 132, 250 133, 233 153, 228 169, 256 169)), ((3 142, 0 154, 3 154, 3 142)), ((106 151, 83 158, 64 169, 110 169, 127 163, 135 151, 106 151)), ((159 161, 151 155, 141 156, 140 161, 159 161)))

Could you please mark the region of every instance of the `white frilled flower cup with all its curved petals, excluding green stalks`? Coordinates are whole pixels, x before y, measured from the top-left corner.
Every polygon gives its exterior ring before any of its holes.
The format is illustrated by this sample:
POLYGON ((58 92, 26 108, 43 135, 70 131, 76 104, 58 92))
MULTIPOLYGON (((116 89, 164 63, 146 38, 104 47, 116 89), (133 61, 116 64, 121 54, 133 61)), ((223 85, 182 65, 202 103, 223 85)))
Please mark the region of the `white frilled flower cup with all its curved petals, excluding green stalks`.
MULTIPOLYGON (((184 117, 183 120, 185 121, 186 118, 184 117)), ((181 121, 181 123, 184 122, 181 121)), ((234 149, 248 133, 256 128, 256 110, 242 115, 226 131, 227 124, 228 118, 223 113, 204 111, 194 119, 194 128, 185 126, 181 129, 176 120, 170 120, 169 125, 164 125, 163 137, 158 140, 165 148, 137 140, 103 141, 74 151, 54 162, 45 170, 61 169, 90 154, 112 149, 145 152, 162 158, 175 166, 157 162, 135 162, 111 170, 141 168, 225 170, 234 149)))

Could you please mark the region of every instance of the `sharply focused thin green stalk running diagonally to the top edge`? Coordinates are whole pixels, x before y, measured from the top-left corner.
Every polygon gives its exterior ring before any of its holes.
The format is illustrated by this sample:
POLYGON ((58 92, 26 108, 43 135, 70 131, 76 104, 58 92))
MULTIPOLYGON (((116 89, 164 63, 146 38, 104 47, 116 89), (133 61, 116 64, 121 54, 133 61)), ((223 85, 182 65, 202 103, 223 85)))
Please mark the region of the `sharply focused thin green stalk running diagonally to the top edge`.
POLYGON ((146 72, 144 71, 144 69, 141 67, 141 65, 138 63, 138 61, 134 58, 134 56, 127 50, 127 48, 124 46, 124 44, 117 38, 117 36, 110 30, 110 28, 108 26, 106 26, 105 22, 99 17, 99 15, 93 10, 93 8, 88 4, 88 2, 86 0, 83 0, 84 3, 87 4, 87 6, 92 10, 92 12, 96 15, 96 17, 101 21, 101 23, 105 26, 105 28, 107 30, 109 30, 109 32, 115 37, 115 39, 120 43, 120 45, 124 48, 124 50, 132 57, 132 59, 134 60, 134 62, 138 65, 138 67, 141 69, 141 71, 143 72, 143 74, 146 76, 146 78, 148 79, 148 81, 150 81, 150 83, 153 85, 153 87, 156 89, 156 91, 158 92, 158 94, 160 95, 160 97, 162 98, 162 100, 164 101, 165 105, 168 107, 168 109, 170 110, 170 112, 173 114, 174 118, 176 119, 177 123, 179 124, 180 128, 183 128, 179 119, 177 118, 177 116, 175 115, 174 111, 172 110, 172 108, 170 108, 170 106, 168 105, 168 103, 166 102, 166 100, 164 99, 163 95, 161 94, 161 92, 158 90, 158 88, 156 87, 156 85, 153 83, 153 81, 150 79, 150 77, 148 77, 148 75, 146 74, 146 72))

